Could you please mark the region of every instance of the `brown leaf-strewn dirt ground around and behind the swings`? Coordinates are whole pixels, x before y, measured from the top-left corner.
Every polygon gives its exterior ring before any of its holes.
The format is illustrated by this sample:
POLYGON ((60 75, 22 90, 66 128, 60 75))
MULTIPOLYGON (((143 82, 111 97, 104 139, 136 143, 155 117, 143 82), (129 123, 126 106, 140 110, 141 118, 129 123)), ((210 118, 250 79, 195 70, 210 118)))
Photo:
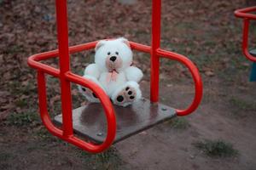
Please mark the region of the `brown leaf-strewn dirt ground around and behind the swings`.
MULTIPOLYGON (((69 0, 70 45, 121 36, 150 44, 151 1, 124 2, 69 0)), ((198 66, 204 84, 201 105, 190 116, 90 155, 42 126, 36 71, 26 65, 28 56, 57 48, 54 1, 0 0, 0 169, 256 169, 256 84, 248 82, 251 63, 241 54, 242 22, 233 15, 247 3, 163 0, 161 47, 188 56, 198 66), (206 141, 220 141, 214 143, 219 144, 217 155, 207 149, 210 145, 202 145, 206 141), (225 150, 230 154, 223 154, 225 150)), ((93 54, 72 54, 73 72, 81 74, 93 54)), ((48 61, 55 67, 57 63, 48 61)), ((135 53, 135 64, 145 74, 141 85, 148 97, 149 56, 135 53)), ((47 82, 54 116, 61 111, 59 82, 53 77, 47 82)), ((193 95, 189 72, 162 59, 160 101, 184 108, 193 95)), ((73 108, 84 103, 73 84, 73 108)))

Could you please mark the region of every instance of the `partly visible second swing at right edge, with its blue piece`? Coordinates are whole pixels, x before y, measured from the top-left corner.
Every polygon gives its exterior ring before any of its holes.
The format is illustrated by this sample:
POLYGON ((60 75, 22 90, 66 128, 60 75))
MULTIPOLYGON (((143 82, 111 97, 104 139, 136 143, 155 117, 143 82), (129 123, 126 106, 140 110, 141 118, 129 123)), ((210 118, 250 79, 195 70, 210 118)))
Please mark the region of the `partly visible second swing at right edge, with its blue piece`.
POLYGON ((243 36, 242 36, 242 52, 247 59, 253 61, 251 70, 250 81, 256 81, 256 49, 248 50, 248 34, 250 20, 256 20, 256 14, 252 14, 256 11, 256 6, 249 8, 241 8, 235 11, 236 17, 243 19, 243 36))

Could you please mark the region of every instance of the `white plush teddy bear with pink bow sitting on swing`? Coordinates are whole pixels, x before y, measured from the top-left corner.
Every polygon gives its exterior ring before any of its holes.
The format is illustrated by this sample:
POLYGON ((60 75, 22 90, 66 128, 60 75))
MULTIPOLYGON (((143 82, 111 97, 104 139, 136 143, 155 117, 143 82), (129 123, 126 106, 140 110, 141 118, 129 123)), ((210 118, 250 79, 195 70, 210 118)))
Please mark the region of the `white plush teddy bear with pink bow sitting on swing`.
MULTIPOLYGON (((132 52, 127 39, 97 42, 95 63, 84 70, 84 77, 96 82, 112 100, 113 104, 127 106, 142 97, 138 82, 143 71, 132 65, 132 52)), ((89 88, 79 86, 79 91, 90 102, 100 102, 89 88)))

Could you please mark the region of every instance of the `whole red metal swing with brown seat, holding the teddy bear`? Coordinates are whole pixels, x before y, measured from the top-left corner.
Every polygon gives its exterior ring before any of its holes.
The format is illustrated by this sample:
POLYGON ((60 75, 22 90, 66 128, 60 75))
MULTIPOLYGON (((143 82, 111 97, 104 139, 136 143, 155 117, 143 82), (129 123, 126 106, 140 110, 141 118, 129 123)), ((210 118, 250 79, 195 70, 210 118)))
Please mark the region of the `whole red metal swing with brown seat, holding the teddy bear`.
POLYGON ((70 71, 69 54, 95 48, 96 42, 68 46, 67 0, 55 0, 59 49, 32 55, 27 61, 28 65, 38 71, 40 116, 50 133, 83 150, 99 153, 108 149, 111 144, 157 123, 174 116, 186 116, 195 111, 202 97, 200 73, 193 62, 185 56, 160 48, 161 1, 153 0, 152 3, 152 46, 130 42, 133 50, 151 54, 150 100, 142 99, 135 105, 123 108, 112 105, 108 95, 96 83, 70 71), (60 59, 60 69, 39 62, 57 56, 60 59), (192 104, 185 110, 173 109, 158 103, 160 57, 177 60, 188 67, 192 74, 195 82, 195 97, 192 104), (55 122, 61 127, 55 126, 47 111, 45 74, 57 77, 61 82, 62 114, 55 116, 55 122), (101 104, 89 104, 72 111, 71 82, 90 88, 98 96, 102 106, 101 104), (84 140, 75 134, 82 134, 84 140))

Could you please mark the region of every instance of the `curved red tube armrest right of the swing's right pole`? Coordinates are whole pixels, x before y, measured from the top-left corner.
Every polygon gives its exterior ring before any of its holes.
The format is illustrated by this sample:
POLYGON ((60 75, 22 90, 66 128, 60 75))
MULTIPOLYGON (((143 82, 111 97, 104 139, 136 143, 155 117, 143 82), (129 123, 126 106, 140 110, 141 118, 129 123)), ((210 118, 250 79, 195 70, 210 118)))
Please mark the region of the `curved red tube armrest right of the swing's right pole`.
POLYGON ((167 59, 174 59, 177 60, 178 62, 182 63, 186 67, 189 68, 189 71, 192 74, 193 80, 195 82, 195 97, 193 99, 193 102, 189 107, 185 110, 176 110, 177 111, 177 116, 186 116, 195 111, 195 109, 200 105, 201 103, 201 98, 203 94, 203 86, 202 86, 202 81, 201 81, 201 76, 200 73, 197 69, 197 67, 194 65, 194 63, 186 58, 185 56, 181 54, 176 54, 173 52, 169 52, 163 49, 158 49, 157 54, 167 58, 167 59))

